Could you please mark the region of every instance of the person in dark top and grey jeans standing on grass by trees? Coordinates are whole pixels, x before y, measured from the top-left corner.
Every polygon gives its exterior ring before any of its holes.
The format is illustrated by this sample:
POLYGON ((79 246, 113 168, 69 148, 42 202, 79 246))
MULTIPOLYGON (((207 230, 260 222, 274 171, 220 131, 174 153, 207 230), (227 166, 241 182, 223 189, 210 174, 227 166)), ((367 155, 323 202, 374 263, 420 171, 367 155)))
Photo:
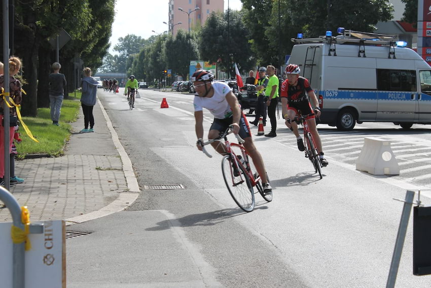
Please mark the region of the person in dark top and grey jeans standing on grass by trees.
POLYGON ((66 86, 66 77, 64 74, 58 73, 60 71, 61 65, 59 62, 54 62, 52 65, 51 73, 48 76, 49 80, 49 102, 51 108, 51 120, 53 125, 58 126, 58 119, 60 118, 61 105, 63 104, 64 89, 66 86))

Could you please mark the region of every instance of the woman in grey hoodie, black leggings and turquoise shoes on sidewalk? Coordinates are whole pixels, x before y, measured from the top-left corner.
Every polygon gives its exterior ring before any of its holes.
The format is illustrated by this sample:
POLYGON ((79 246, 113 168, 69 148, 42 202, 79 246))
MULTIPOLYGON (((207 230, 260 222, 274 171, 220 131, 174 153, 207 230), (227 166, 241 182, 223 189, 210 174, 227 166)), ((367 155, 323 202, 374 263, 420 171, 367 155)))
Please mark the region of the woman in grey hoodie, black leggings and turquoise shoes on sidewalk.
POLYGON ((80 133, 94 132, 93 106, 96 105, 97 81, 91 77, 91 69, 84 68, 84 78, 82 79, 81 106, 84 113, 84 129, 80 133), (88 124, 90 123, 90 129, 88 124))

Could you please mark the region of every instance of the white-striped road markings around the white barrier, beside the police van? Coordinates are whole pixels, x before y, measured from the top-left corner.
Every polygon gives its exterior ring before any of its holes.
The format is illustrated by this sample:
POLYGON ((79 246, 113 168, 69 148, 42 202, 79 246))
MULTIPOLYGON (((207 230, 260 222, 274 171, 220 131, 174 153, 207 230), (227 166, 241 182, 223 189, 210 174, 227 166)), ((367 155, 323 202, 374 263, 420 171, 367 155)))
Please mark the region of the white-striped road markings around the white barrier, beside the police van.
MULTIPOLYGON (((301 132, 302 133, 302 132, 301 132)), ((319 130, 325 156, 338 162, 351 165, 354 169, 356 160, 364 145, 365 137, 375 137, 390 141, 391 149, 400 167, 400 175, 391 176, 397 180, 418 186, 431 188, 431 143, 424 139, 406 135, 373 134, 363 131, 339 132, 337 130, 319 130)), ((293 133, 278 133, 275 141, 296 147, 293 133)))

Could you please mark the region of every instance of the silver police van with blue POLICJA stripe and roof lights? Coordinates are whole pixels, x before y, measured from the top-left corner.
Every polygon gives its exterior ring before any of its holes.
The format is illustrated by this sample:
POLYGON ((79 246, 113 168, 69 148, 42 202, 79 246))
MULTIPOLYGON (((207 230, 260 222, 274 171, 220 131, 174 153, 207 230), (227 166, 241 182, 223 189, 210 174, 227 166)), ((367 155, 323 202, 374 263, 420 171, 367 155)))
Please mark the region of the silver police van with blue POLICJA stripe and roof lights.
POLYGON ((289 63, 310 81, 319 122, 352 130, 355 123, 431 124, 431 67, 394 37, 339 28, 319 38, 292 39, 289 63))

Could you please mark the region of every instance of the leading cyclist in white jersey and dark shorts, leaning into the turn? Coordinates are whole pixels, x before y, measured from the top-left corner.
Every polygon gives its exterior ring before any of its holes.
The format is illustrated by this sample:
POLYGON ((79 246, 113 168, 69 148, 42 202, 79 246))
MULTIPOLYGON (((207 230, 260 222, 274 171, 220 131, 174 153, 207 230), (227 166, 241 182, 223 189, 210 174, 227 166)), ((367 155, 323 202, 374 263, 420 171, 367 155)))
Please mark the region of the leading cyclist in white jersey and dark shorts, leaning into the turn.
MULTIPOLYGON (((256 149, 255 143, 252 139, 252 134, 248 127, 248 122, 239 107, 235 94, 226 83, 212 82, 213 80, 214 75, 212 75, 210 71, 206 70, 196 71, 191 78, 193 87, 196 91, 193 105, 195 106, 195 131, 198 138, 196 143, 197 148, 202 150, 202 109, 206 108, 214 116, 214 121, 208 132, 208 139, 220 138, 220 133, 225 132, 229 125, 232 124, 232 132, 234 134, 239 134, 239 136, 245 141, 243 143, 244 148, 250 157, 252 157, 256 170, 262 179, 264 193, 272 193, 272 187, 268 183, 268 179, 266 177, 266 170, 262 156, 256 149)), ((225 149, 221 144, 223 143, 211 143, 212 147, 217 152, 224 154, 225 149)))

